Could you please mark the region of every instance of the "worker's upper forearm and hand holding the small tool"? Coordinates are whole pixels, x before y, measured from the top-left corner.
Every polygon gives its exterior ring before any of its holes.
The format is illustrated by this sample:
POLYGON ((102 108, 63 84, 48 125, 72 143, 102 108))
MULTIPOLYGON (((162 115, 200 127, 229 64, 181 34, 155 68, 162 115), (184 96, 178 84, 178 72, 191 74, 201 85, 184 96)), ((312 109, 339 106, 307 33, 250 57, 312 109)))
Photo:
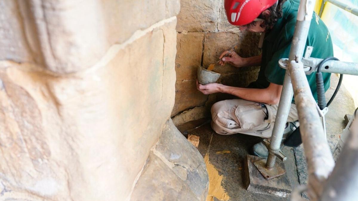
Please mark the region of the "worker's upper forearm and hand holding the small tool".
POLYGON ((255 57, 248 57, 248 58, 242 58, 236 52, 230 52, 227 57, 224 57, 225 54, 227 54, 228 51, 224 51, 219 59, 220 65, 224 65, 226 63, 229 63, 233 65, 234 67, 248 67, 248 66, 259 66, 261 64, 261 58, 262 55, 258 55, 255 57))

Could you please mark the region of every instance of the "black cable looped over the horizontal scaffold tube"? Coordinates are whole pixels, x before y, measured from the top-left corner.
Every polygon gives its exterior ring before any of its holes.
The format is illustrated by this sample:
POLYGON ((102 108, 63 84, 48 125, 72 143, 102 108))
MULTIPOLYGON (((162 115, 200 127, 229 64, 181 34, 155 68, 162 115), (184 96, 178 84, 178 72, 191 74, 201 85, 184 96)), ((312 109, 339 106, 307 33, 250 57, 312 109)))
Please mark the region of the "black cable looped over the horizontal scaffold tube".
POLYGON ((327 58, 323 59, 318 64, 317 72, 316 72, 317 100, 318 100, 318 106, 319 106, 319 108, 321 110, 324 109, 325 107, 328 107, 332 103, 334 97, 338 93, 338 90, 339 90, 340 85, 342 84, 342 80, 343 80, 343 74, 340 74, 337 87, 336 87, 332 97, 329 99, 328 103, 326 103, 326 97, 324 95, 325 91, 324 91, 324 83, 323 83, 323 76, 322 76, 322 73, 321 73, 321 68, 322 68, 323 64, 325 62, 329 61, 329 60, 337 60, 337 61, 339 61, 339 59, 337 59, 335 57, 327 57, 327 58))

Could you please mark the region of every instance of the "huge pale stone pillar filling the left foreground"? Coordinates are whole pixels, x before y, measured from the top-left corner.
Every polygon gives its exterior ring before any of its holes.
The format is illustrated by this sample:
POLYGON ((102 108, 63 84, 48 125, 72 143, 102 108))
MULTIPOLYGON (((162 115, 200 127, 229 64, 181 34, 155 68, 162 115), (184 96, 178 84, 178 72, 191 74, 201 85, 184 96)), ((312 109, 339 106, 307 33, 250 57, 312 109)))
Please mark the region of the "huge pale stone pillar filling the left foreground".
POLYGON ((130 199, 172 124, 179 9, 0 1, 0 200, 130 199))

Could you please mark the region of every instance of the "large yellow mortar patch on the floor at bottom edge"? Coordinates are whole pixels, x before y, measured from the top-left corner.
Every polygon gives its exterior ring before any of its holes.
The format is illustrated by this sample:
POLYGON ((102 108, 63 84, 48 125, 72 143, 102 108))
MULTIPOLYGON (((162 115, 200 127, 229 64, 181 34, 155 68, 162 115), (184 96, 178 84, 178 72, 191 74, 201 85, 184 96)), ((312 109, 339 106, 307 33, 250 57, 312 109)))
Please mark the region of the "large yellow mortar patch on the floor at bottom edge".
POLYGON ((216 170, 215 166, 209 162, 209 154, 207 153, 204 157, 206 170, 209 175, 209 193, 206 197, 206 201, 213 201, 214 197, 218 200, 227 201, 230 199, 227 192, 221 185, 223 176, 219 175, 219 172, 216 170))

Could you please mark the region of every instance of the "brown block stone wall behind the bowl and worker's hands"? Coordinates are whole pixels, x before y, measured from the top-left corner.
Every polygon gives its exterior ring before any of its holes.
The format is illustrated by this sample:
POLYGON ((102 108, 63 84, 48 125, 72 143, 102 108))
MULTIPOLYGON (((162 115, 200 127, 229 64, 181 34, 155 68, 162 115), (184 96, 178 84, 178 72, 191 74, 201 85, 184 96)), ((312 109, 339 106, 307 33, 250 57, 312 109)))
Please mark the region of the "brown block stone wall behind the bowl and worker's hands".
MULTIPOLYGON (((226 19, 223 0, 181 0, 178 15, 177 54, 175 60, 175 105, 171 116, 176 125, 208 117, 211 105, 224 94, 204 95, 196 89, 197 67, 215 63, 219 55, 238 44, 236 52, 242 57, 260 54, 259 35, 241 32, 226 19), (179 115, 178 115, 179 114, 179 115)), ((246 87, 256 79, 258 69, 237 69, 231 65, 216 67, 222 74, 219 82, 246 87)))

